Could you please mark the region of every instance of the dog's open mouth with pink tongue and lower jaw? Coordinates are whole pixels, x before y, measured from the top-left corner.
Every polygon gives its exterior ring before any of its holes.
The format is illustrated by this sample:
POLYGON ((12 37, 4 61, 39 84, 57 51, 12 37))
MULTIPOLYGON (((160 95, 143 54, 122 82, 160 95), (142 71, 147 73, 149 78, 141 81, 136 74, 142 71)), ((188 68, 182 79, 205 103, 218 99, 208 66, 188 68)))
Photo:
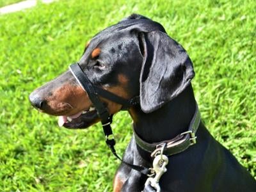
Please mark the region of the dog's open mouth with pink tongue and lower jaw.
POLYGON ((92 106, 72 116, 59 116, 58 125, 69 129, 81 129, 89 127, 99 121, 96 109, 92 106))

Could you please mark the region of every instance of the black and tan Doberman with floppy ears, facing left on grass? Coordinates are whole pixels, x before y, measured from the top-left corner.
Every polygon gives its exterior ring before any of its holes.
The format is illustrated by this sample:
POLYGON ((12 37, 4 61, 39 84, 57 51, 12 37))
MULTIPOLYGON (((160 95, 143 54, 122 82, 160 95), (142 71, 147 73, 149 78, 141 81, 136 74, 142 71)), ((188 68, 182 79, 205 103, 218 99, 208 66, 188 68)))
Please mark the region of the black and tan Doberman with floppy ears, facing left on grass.
MULTIPOLYGON (((197 108, 191 86, 193 64, 161 24, 132 14, 95 35, 78 63, 93 85, 124 99, 139 95, 138 104, 127 109, 134 135, 125 162, 151 167, 147 143, 172 145, 170 139, 182 132, 191 134, 189 141, 196 139, 195 145, 168 156, 167 172, 159 180, 161 191, 256 191, 255 179, 212 138, 202 121, 194 132, 188 131, 197 108)), ((122 109, 113 100, 99 99, 111 115, 122 109)), ((29 100, 39 111, 59 116, 60 126, 86 128, 100 121, 92 99, 70 70, 37 88, 29 100)), ((163 154, 165 149, 161 147, 163 154)), ((114 191, 155 191, 150 183, 144 187, 147 178, 122 162, 114 191)))

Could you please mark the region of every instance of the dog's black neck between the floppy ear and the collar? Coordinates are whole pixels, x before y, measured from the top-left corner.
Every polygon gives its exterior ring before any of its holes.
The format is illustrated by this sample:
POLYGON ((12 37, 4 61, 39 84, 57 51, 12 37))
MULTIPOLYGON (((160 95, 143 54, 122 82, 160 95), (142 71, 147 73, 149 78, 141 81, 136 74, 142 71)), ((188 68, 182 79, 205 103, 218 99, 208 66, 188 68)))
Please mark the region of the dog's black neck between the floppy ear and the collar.
POLYGON ((129 113, 134 121, 134 131, 149 143, 170 140, 188 131, 195 113, 195 96, 191 84, 175 99, 152 113, 132 108, 129 113))

